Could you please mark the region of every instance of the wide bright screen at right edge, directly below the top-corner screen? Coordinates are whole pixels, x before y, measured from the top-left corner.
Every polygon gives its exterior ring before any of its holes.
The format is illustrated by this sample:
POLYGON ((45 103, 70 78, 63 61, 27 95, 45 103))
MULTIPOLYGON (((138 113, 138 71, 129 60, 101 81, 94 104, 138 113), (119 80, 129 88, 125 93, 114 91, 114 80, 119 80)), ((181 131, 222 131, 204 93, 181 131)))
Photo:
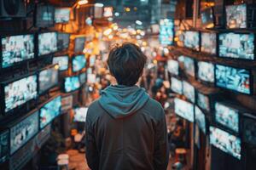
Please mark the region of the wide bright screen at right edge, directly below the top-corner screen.
POLYGON ((218 55, 235 59, 254 59, 254 34, 220 33, 218 55))

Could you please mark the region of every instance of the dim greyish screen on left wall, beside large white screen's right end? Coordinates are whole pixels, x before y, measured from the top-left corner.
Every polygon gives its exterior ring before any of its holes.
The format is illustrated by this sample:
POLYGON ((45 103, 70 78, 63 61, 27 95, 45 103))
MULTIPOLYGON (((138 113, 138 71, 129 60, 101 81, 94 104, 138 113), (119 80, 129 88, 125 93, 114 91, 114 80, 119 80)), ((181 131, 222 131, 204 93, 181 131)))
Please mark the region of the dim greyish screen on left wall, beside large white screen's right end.
POLYGON ((39 94, 43 94, 45 91, 49 90, 49 88, 58 85, 59 70, 55 67, 55 65, 51 65, 45 68, 43 71, 39 71, 38 81, 39 94))

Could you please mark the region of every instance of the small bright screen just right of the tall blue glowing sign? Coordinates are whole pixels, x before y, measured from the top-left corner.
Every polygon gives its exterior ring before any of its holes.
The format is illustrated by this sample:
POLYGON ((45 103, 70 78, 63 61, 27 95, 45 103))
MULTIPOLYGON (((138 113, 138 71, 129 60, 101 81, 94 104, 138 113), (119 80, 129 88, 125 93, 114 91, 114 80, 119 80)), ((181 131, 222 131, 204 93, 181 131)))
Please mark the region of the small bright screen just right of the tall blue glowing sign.
POLYGON ((185 31, 184 47, 199 51, 200 50, 200 32, 199 31, 185 31))

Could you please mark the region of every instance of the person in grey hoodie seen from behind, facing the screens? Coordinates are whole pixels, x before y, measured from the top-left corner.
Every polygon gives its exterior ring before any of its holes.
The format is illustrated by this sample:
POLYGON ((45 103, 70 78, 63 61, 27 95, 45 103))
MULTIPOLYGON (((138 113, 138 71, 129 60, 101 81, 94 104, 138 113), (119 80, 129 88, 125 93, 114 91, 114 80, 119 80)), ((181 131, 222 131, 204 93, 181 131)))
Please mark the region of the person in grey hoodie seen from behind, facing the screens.
POLYGON ((161 170, 168 164, 166 118, 161 105, 136 86, 146 56, 132 43, 108 56, 118 85, 102 91, 86 117, 86 158, 92 170, 161 170))

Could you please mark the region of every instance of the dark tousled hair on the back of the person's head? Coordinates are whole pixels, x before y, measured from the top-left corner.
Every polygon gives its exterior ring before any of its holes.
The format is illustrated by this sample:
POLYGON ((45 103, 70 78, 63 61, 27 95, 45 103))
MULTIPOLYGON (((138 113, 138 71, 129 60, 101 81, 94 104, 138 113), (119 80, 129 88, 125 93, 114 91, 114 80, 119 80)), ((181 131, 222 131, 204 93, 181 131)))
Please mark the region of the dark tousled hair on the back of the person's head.
POLYGON ((119 85, 133 86, 143 75, 147 57, 131 42, 116 45, 108 55, 108 68, 119 85))

